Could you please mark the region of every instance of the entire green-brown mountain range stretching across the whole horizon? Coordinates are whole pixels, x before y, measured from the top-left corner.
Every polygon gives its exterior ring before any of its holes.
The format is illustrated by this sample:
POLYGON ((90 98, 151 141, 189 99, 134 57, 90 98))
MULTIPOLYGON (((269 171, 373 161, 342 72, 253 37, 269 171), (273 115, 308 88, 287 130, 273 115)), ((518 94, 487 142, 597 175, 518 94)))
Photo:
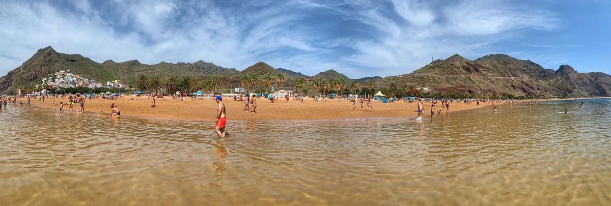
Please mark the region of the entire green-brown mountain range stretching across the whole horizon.
MULTIPOLYGON (((60 70, 95 79, 98 82, 122 80, 133 82, 137 76, 223 76, 225 87, 239 87, 240 76, 244 74, 276 75, 287 74, 285 85, 291 87, 296 78, 343 79, 345 75, 333 69, 305 76, 288 69, 274 69, 264 62, 255 63, 243 71, 223 68, 199 60, 194 63, 166 63, 145 65, 138 60, 114 62, 106 60, 97 63, 79 54, 62 54, 53 48, 38 49, 30 59, 6 76, 0 77, 0 93, 15 93, 21 85, 31 86, 41 82, 48 74, 60 70)), ((361 82, 374 81, 380 89, 390 85, 396 87, 414 86, 428 88, 434 96, 445 93, 472 94, 473 96, 525 96, 525 97, 589 97, 611 96, 611 76, 604 73, 579 73, 569 65, 557 70, 546 69, 531 60, 521 60, 505 54, 490 54, 469 60, 455 54, 445 60, 434 60, 410 74, 386 78, 365 77, 361 82)))

